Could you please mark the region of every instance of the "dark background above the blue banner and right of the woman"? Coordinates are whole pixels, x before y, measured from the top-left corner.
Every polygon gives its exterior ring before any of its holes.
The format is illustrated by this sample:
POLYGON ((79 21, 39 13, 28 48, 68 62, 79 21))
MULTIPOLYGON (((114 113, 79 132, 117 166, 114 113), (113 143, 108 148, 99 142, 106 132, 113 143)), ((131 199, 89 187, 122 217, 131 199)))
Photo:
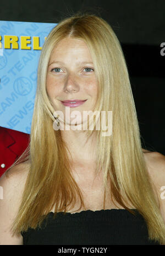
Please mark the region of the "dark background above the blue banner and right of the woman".
POLYGON ((0 20, 58 23, 78 10, 94 13, 112 26, 128 66, 142 147, 165 155, 165 56, 160 54, 165 1, 3 0, 0 20))

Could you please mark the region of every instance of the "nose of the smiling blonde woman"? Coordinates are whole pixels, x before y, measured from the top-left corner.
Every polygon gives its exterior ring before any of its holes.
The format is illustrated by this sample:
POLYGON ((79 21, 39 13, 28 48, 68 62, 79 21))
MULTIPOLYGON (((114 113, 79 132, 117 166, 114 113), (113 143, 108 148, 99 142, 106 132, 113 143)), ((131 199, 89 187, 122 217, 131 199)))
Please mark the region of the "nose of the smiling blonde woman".
POLYGON ((65 84, 64 84, 64 92, 78 92, 79 84, 76 80, 74 74, 68 74, 65 84))

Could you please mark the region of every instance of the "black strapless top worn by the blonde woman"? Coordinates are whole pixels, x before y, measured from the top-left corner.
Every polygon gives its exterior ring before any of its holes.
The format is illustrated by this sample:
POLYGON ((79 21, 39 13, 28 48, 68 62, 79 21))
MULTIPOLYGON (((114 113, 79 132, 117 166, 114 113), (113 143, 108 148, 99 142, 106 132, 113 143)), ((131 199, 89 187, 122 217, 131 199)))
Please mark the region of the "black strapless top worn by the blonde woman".
POLYGON ((87 210, 65 215, 58 212, 54 219, 50 212, 41 228, 21 232, 23 244, 159 244, 149 241, 144 218, 136 209, 131 210, 136 215, 125 209, 87 210))

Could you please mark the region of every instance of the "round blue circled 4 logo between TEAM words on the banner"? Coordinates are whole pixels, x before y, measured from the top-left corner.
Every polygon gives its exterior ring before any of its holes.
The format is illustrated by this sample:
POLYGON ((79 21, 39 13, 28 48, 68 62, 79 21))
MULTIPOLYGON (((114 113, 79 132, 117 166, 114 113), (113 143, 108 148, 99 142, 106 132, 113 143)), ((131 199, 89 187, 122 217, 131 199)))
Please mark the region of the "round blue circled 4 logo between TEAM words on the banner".
POLYGON ((25 96, 31 92, 32 83, 26 77, 19 77, 14 82, 14 90, 17 94, 25 96))

